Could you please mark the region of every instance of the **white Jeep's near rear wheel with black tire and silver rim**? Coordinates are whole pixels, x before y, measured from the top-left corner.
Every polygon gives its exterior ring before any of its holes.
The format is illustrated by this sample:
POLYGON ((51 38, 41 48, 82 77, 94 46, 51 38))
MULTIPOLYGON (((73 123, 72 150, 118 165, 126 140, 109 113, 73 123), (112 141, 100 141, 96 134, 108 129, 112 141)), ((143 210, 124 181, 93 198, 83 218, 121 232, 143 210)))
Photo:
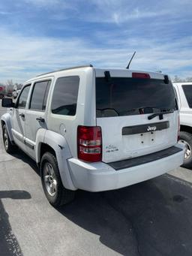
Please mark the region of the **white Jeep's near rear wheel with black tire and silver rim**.
POLYGON ((62 185, 57 159, 50 152, 46 152, 41 158, 40 176, 43 191, 52 206, 62 206, 74 200, 75 191, 64 188, 62 185))

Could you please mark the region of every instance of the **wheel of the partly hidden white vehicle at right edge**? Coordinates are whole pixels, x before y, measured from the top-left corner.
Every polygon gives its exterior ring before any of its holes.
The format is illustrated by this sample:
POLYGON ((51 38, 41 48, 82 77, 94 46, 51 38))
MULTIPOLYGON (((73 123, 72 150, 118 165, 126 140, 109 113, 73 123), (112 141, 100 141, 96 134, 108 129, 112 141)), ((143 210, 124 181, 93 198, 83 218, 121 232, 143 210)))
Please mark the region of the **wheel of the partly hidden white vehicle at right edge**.
POLYGON ((186 153, 184 155, 184 164, 182 167, 191 168, 192 167, 192 134, 187 131, 180 132, 180 141, 185 143, 187 146, 186 153))

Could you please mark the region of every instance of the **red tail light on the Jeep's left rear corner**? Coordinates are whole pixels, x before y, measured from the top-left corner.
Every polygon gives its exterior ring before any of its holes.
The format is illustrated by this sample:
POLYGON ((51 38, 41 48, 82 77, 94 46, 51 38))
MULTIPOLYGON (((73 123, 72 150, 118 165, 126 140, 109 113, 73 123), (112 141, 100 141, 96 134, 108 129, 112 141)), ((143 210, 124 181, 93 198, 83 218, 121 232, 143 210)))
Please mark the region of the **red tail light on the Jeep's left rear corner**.
POLYGON ((102 160, 102 134, 99 126, 78 126, 77 155, 83 161, 102 160))

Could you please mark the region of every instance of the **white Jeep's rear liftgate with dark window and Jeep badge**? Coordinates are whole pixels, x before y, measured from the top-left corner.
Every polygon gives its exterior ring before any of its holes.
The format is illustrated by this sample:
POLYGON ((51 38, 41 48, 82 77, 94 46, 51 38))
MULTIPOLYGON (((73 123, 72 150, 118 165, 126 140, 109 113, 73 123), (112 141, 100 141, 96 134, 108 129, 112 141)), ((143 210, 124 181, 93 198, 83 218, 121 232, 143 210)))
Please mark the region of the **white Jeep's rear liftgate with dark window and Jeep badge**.
POLYGON ((104 162, 135 158, 175 145, 175 92, 162 74, 96 71, 95 86, 104 162))

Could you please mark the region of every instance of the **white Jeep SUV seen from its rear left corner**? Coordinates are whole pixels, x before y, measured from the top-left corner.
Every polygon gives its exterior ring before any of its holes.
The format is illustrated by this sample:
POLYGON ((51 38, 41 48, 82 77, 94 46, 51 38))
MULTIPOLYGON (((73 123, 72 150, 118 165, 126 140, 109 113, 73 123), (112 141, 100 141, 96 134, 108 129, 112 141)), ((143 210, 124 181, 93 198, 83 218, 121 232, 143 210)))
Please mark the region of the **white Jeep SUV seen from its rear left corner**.
POLYGON ((36 161, 53 206, 78 188, 123 188, 183 164, 175 92, 160 73, 68 68, 28 80, 2 106, 5 150, 36 161))

